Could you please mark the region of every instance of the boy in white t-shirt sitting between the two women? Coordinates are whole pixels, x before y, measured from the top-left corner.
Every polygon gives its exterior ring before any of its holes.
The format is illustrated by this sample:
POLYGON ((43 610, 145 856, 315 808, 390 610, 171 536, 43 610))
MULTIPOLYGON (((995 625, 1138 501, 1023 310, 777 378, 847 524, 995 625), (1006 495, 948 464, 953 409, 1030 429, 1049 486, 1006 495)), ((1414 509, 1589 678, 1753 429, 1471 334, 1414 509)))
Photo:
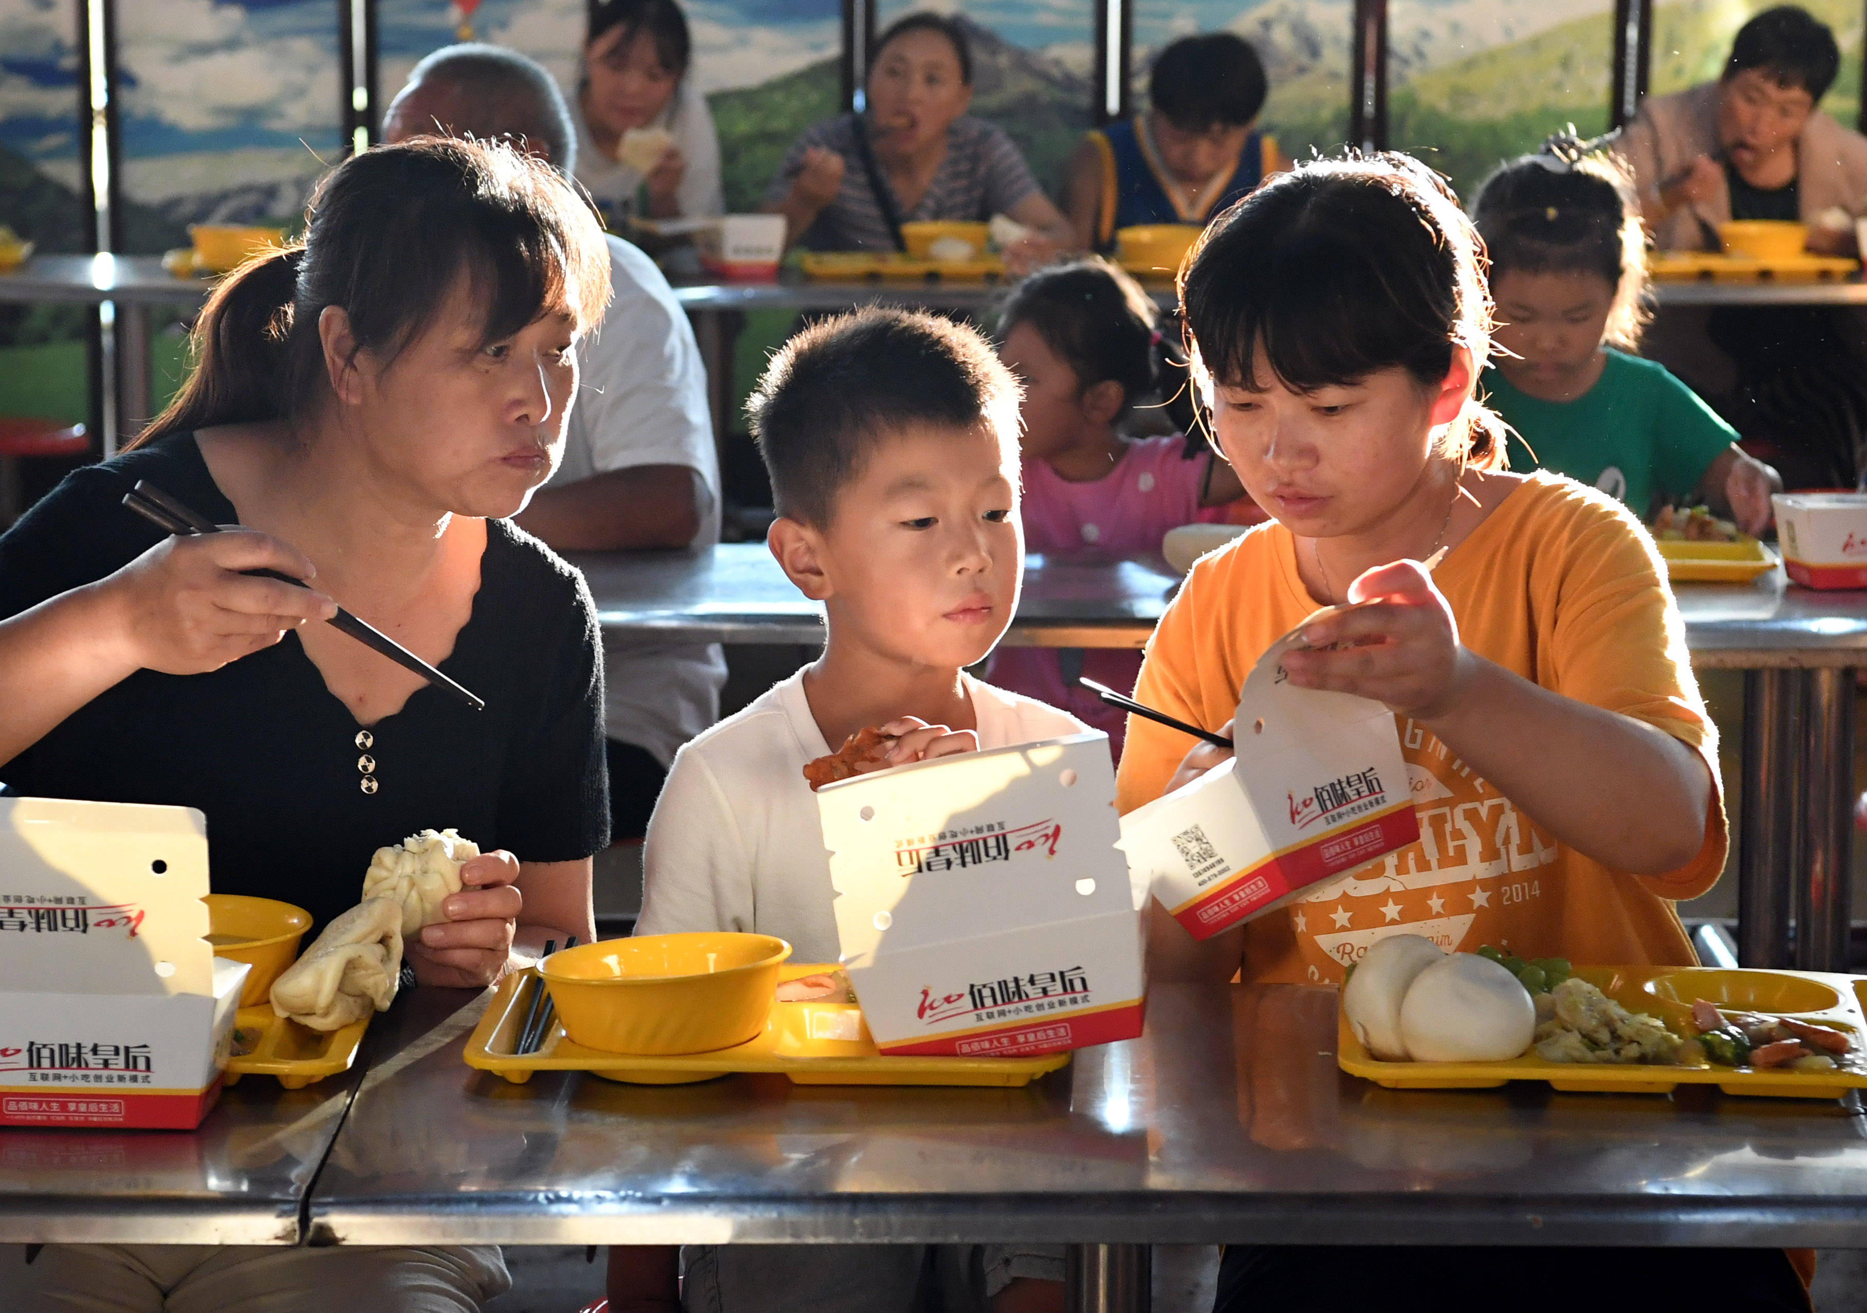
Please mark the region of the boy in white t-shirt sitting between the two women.
MULTIPOLYGON (((807 761, 870 726, 896 735, 883 765, 1083 733, 965 673, 1018 608, 1018 401, 984 338, 924 313, 861 310, 773 358, 749 401, 779 509, 767 543, 823 602, 823 655, 674 755, 648 824, 639 934, 756 931, 790 940, 792 961, 835 962, 807 761)), ((665 1251, 611 1253, 618 1307, 672 1274, 665 1251)), ((898 1313, 922 1268, 947 1307, 1062 1302, 1055 1250, 708 1246, 689 1250, 685 1304, 898 1313)))

